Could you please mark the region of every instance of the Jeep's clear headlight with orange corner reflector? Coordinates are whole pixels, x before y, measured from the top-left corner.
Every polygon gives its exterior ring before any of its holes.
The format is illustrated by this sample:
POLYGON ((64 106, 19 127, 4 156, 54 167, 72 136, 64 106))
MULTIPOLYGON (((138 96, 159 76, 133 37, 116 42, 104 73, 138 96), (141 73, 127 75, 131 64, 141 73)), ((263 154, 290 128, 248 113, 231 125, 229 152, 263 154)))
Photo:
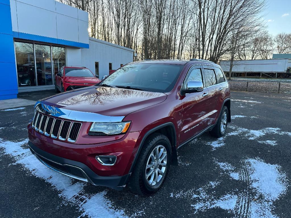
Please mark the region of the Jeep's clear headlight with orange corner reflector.
POLYGON ((126 133, 130 125, 130 121, 118 123, 93 123, 89 130, 89 135, 98 135, 94 133, 104 133, 106 135, 116 135, 126 133))

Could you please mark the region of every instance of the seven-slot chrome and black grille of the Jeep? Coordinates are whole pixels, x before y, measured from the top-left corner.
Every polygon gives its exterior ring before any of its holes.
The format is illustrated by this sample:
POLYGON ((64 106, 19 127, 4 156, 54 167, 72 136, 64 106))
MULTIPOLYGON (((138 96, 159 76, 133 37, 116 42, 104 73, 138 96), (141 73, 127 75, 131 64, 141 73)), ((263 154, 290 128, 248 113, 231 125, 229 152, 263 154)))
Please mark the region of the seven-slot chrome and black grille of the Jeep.
POLYGON ((79 122, 72 123, 68 120, 43 115, 40 112, 35 113, 32 121, 32 128, 39 133, 62 141, 68 140, 68 142, 77 141, 81 125, 79 122))

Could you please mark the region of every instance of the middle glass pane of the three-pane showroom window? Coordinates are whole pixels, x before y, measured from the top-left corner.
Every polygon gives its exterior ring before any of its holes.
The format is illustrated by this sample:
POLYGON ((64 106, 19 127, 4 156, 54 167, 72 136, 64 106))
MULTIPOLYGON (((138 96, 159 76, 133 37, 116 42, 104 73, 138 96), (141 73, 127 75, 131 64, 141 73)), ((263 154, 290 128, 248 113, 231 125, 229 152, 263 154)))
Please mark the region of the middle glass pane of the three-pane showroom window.
POLYGON ((52 85, 52 58, 49 45, 35 44, 36 75, 38 85, 52 85))

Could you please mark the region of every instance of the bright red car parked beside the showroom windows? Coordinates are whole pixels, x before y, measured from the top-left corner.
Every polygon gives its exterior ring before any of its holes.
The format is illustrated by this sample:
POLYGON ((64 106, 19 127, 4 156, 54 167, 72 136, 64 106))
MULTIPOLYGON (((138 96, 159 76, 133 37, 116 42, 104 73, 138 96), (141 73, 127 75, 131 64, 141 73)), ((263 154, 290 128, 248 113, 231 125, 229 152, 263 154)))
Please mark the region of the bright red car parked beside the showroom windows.
POLYGON ((100 83, 100 79, 86 67, 61 67, 55 75, 56 92, 66 92, 97 83, 100 83))

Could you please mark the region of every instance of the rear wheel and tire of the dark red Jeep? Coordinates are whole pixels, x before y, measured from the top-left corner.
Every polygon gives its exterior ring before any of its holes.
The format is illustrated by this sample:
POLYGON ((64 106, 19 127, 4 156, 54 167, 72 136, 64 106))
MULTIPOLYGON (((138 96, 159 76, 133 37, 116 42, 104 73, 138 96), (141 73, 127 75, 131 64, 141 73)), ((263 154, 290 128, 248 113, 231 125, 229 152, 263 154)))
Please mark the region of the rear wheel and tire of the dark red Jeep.
POLYGON ((209 132, 210 135, 214 137, 221 137, 225 135, 226 128, 227 128, 227 121, 228 121, 228 109, 226 106, 223 106, 217 123, 213 127, 213 129, 209 132))

